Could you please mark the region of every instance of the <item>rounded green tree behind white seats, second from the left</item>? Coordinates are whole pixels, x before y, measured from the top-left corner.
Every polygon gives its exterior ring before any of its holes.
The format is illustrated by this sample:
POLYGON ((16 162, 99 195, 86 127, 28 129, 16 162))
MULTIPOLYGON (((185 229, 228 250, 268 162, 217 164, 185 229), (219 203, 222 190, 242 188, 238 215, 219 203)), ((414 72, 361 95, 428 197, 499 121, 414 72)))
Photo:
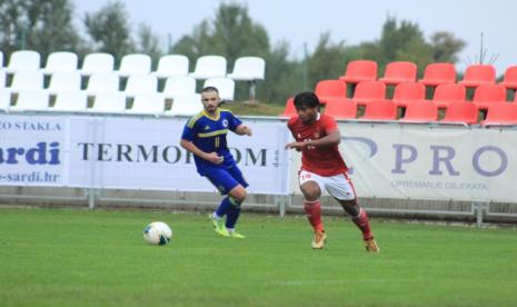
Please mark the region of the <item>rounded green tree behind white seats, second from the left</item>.
POLYGON ((129 14, 122 2, 108 2, 98 12, 86 13, 84 26, 98 46, 96 51, 111 53, 118 61, 135 52, 129 14))

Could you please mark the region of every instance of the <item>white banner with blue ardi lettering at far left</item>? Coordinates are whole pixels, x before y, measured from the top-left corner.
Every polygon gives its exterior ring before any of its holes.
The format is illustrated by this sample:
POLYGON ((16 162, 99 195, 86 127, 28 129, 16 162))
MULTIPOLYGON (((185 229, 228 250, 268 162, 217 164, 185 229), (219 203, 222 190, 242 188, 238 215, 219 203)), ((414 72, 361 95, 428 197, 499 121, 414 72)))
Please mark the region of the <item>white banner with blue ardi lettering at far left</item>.
POLYGON ((66 117, 0 117, 0 185, 62 186, 66 117))

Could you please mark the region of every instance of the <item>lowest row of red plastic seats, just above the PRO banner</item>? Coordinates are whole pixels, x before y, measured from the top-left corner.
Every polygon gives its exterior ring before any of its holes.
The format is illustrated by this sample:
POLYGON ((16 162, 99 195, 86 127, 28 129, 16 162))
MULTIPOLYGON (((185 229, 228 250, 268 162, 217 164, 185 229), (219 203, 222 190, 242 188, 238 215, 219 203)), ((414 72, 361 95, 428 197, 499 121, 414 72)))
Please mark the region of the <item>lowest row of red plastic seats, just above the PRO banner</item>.
MULTIPOLYGON (((485 119, 479 117, 479 108, 470 101, 454 101, 445 109, 445 116, 439 119, 439 105, 430 101, 419 101, 406 107, 404 116, 399 117, 397 103, 390 100, 372 100, 365 106, 360 116, 359 105, 354 100, 330 99, 325 105, 324 112, 337 119, 398 121, 410 123, 461 123, 483 126, 517 125, 517 101, 515 103, 493 103, 486 110, 485 119)), ((282 117, 296 115, 294 99, 289 98, 282 117)))

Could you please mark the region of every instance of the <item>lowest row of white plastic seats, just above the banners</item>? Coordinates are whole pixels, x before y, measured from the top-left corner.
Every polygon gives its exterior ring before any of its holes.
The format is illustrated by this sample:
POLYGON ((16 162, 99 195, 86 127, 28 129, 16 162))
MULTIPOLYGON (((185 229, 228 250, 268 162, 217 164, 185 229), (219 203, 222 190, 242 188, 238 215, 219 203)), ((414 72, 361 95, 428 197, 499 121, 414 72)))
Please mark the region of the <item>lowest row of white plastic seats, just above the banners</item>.
POLYGON ((202 110, 199 93, 175 95, 170 108, 162 93, 137 93, 133 98, 120 91, 99 92, 89 98, 84 91, 62 91, 52 99, 46 90, 11 92, 0 89, 0 110, 4 112, 51 111, 88 113, 127 113, 152 116, 191 116, 202 110), (11 103, 16 100, 16 103, 11 103))

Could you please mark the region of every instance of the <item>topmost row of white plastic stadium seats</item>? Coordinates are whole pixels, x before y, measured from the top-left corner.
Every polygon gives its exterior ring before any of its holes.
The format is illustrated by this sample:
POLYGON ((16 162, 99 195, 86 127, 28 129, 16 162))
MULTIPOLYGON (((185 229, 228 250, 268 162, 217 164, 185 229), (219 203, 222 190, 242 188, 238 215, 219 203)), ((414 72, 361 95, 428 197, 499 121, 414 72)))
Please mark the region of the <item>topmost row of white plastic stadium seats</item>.
MULTIPOLYGON (((44 67, 41 67, 41 56, 33 50, 18 50, 9 58, 6 71, 14 73, 20 70, 41 70, 46 75, 57 71, 79 71, 90 76, 97 72, 115 72, 120 77, 131 75, 151 73, 157 78, 171 76, 191 76, 196 79, 227 77, 236 81, 264 80, 266 61, 259 57, 238 58, 233 71, 227 73, 227 60, 221 56, 202 56, 197 59, 196 67, 189 73, 189 59, 182 55, 166 55, 158 61, 156 71, 151 71, 151 57, 143 53, 131 53, 122 57, 120 67, 115 68, 115 57, 109 53, 96 52, 84 57, 82 67, 78 67, 78 56, 69 51, 56 51, 48 56, 44 67)), ((3 55, 0 51, 0 65, 3 63, 3 55)))

